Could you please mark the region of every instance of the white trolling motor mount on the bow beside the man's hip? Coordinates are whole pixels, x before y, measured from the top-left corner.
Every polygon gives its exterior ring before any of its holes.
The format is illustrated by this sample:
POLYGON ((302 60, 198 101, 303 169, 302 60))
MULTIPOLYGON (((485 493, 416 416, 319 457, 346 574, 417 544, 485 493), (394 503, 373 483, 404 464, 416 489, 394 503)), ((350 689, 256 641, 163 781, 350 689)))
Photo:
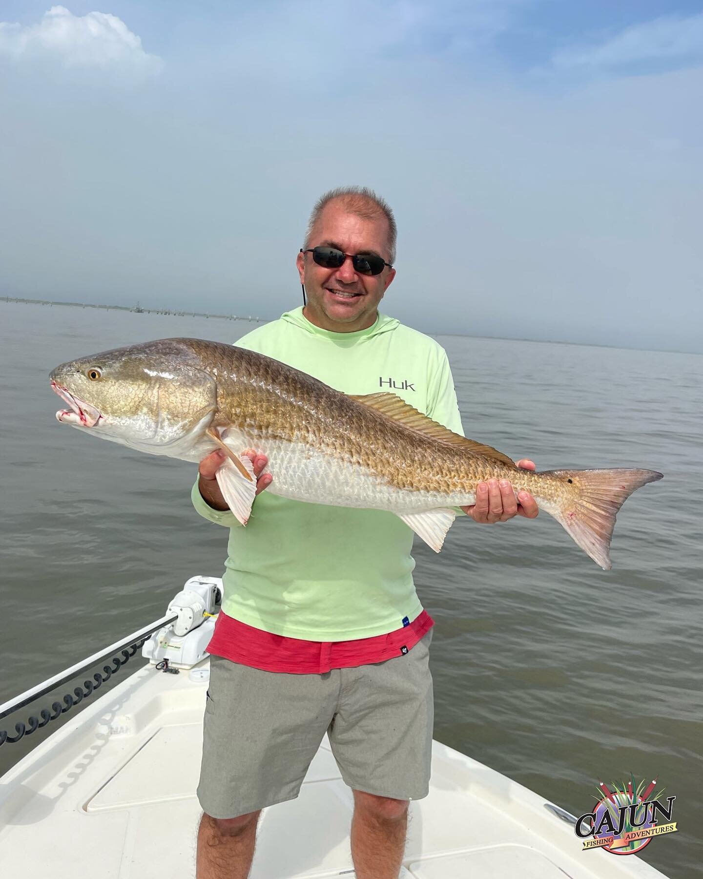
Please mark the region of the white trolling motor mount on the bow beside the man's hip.
POLYGON ((219 577, 192 577, 170 600, 167 615, 177 618, 154 632, 141 648, 141 656, 164 671, 192 668, 205 657, 214 632, 214 618, 222 604, 219 577))

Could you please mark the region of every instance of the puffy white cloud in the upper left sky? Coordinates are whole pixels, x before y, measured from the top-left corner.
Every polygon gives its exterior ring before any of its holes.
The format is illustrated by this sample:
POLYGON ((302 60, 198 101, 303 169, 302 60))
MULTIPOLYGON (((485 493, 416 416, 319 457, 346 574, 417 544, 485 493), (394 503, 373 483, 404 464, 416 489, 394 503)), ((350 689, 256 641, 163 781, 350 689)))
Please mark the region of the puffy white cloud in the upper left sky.
POLYGON ((120 71, 132 76, 158 73, 162 60, 147 54, 141 40, 108 12, 73 15, 52 6, 39 24, 0 22, 0 56, 16 62, 57 62, 64 68, 120 71))

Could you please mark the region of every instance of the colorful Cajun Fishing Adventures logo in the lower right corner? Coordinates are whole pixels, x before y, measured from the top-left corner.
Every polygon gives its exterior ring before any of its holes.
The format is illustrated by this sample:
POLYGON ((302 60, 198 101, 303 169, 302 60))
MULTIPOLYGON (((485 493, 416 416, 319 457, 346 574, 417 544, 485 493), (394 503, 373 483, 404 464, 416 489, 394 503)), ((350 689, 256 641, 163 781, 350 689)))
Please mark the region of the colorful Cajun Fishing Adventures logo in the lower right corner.
POLYGON ((676 797, 667 796, 664 803, 662 789, 649 799, 656 788, 656 779, 645 789, 646 783, 642 780, 635 785, 633 774, 627 786, 624 781, 620 786, 612 783, 612 790, 602 781, 598 782, 595 808, 579 817, 574 828, 576 836, 584 840, 584 849, 603 848, 611 854, 635 854, 649 846, 654 837, 677 832, 676 822, 671 821, 676 797), (658 824, 658 817, 667 823, 658 824))

